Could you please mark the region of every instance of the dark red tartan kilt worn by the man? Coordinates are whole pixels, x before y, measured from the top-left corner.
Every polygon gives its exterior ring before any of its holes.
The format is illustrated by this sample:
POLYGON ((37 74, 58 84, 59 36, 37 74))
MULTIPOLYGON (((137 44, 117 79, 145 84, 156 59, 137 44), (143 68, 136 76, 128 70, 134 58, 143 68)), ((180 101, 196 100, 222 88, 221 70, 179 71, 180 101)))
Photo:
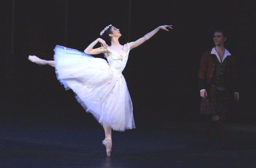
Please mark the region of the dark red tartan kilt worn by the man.
POLYGON ((215 87, 209 85, 206 90, 207 97, 202 98, 200 115, 221 115, 220 117, 230 117, 231 113, 231 102, 228 88, 224 96, 216 94, 215 87))

